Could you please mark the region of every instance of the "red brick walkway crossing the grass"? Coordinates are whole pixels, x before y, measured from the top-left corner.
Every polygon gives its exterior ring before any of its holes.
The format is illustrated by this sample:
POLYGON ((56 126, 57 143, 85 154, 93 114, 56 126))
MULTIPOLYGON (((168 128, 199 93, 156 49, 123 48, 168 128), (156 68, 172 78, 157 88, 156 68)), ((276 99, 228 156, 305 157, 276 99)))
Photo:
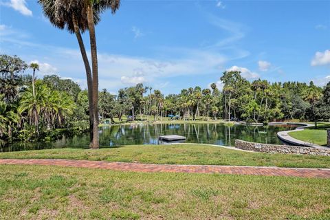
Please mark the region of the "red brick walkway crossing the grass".
POLYGON ((79 168, 102 168, 108 170, 167 173, 219 173, 235 175, 264 175, 287 177, 330 178, 330 169, 275 168, 257 166, 211 166, 211 165, 162 165, 122 162, 99 162, 74 159, 0 159, 0 164, 53 165, 79 168))

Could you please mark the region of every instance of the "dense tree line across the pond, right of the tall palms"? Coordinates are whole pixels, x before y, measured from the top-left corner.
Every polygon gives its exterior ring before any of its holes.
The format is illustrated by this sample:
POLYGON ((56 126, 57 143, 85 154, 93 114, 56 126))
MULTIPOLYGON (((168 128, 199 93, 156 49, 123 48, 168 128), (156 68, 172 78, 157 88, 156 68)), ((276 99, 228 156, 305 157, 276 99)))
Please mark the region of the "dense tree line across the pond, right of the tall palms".
MULTIPOLYGON (((182 89, 180 94, 164 96, 161 91, 137 84, 120 89, 113 96, 111 117, 121 118, 123 113, 154 116, 162 119, 179 115, 183 120, 243 120, 270 122, 274 119, 329 120, 330 83, 325 88, 313 82, 269 83, 254 80, 250 83, 240 72, 224 72, 222 91, 212 83, 210 89, 201 87, 182 89)), ((100 101, 101 102, 101 101, 100 101)))

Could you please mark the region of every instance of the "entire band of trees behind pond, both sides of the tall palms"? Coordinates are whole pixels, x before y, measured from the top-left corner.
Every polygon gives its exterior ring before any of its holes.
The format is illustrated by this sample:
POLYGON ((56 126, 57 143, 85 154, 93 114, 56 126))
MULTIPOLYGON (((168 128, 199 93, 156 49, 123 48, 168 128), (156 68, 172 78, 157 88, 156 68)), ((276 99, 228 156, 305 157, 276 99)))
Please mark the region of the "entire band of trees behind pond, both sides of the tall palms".
MULTIPOLYGON (((0 139, 49 139, 61 131, 89 129, 89 94, 70 79, 56 75, 35 79, 39 66, 17 56, 0 55, 0 139), (32 74, 32 75, 30 75, 32 74)), ((182 89, 164 96, 142 83, 110 94, 98 93, 99 118, 120 122, 162 120, 168 115, 182 120, 243 120, 270 122, 274 119, 329 120, 330 83, 250 82, 240 72, 223 72, 221 91, 210 88, 182 89)))

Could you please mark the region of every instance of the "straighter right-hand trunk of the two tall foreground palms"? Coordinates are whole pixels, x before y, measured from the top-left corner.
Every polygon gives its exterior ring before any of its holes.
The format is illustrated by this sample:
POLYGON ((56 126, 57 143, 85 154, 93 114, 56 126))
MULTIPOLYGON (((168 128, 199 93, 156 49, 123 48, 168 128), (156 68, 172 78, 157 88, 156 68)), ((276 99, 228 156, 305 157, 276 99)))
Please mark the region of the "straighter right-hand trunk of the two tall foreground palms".
POLYGON ((98 53, 96 49, 96 34, 94 25, 93 5, 87 6, 87 21, 89 29, 89 39, 91 43, 91 68, 93 71, 93 141, 91 148, 99 148, 98 142, 98 53))

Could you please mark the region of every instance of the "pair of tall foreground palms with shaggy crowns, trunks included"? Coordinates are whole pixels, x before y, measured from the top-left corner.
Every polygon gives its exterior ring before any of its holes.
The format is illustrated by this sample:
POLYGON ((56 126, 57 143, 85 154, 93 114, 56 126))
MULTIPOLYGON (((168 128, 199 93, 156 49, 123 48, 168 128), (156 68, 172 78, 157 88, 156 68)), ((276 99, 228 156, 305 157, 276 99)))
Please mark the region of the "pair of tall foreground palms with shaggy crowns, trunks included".
MULTIPOLYGON (((115 13, 120 5, 120 0, 39 0, 43 10, 56 27, 67 28, 75 32, 80 52, 82 53, 87 74, 87 87, 89 90, 89 120, 93 122, 91 147, 99 148, 98 143, 98 57, 96 49, 95 25, 100 21, 100 13, 111 8, 115 13), (92 76, 85 46, 81 39, 80 30, 89 30, 91 45, 92 76), (78 32, 79 30, 79 32, 78 32)), ((90 124, 90 125, 91 125, 90 124)))

